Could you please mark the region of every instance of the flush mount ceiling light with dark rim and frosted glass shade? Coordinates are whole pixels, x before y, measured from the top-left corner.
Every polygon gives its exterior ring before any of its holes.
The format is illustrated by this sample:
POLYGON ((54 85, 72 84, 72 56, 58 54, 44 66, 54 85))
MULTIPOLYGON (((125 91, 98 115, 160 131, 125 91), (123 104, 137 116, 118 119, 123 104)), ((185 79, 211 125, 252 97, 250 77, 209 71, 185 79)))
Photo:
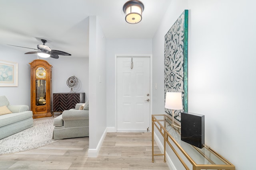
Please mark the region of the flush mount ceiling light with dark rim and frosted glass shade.
POLYGON ((139 23, 142 20, 144 5, 138 0, 129 0, 123 6, 125 20, 128 23, 139 23))

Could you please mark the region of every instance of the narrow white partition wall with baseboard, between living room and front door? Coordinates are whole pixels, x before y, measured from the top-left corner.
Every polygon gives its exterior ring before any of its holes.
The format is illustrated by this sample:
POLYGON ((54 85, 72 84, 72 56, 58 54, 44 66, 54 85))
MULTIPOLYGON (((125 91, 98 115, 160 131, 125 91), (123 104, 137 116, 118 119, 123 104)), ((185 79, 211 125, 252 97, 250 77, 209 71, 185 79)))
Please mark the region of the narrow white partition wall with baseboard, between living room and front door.
POLYGON ((89 17, 89 157, 96 157, 106 132, 106 39, 96 16, 89 17))

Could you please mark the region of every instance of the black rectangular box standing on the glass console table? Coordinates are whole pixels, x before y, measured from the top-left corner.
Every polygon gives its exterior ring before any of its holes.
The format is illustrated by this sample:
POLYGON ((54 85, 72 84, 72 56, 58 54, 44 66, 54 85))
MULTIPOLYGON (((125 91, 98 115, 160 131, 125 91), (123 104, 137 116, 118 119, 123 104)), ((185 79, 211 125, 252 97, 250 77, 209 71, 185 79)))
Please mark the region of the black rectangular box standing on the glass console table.
POLYGON ((181 140, 198 148, 204 147, 204 115, 181 113, 181 140))

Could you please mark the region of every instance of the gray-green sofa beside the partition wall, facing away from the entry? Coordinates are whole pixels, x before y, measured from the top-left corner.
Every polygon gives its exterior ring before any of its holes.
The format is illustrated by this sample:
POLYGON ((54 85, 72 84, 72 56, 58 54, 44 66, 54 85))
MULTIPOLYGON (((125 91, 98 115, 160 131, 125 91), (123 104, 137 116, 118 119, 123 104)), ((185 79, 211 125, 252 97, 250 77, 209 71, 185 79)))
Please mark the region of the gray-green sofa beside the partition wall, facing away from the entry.
POLYGON ((82 105, 76 104, 75 109, 64 110, 54 118, 53 139, 89 136, 89 101, 81 109, 82 105))

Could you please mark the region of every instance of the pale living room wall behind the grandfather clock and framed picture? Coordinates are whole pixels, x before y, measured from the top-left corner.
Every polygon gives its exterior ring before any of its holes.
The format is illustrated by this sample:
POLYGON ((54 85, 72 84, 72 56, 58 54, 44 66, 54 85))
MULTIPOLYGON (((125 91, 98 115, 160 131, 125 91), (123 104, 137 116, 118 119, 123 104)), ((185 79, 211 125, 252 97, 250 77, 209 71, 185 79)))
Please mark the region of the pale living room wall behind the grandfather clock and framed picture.
MULTIPOLYGON (((25 104, 30 107, 30 62, 36 55, 24 55, 13 48, 0 48, 0 60, 18 63, 18 87, 0 87, 0 96, 6 96, 11 105, 25 104)), ((42 59, 42 58, 40 58, 42 59)), ((77 76, 79 86, 75 92, 85 92, 88 99, 88 58, 65 57, 44 59, 52 65, 52 93, 69 92, 66 81, 77 76)))

